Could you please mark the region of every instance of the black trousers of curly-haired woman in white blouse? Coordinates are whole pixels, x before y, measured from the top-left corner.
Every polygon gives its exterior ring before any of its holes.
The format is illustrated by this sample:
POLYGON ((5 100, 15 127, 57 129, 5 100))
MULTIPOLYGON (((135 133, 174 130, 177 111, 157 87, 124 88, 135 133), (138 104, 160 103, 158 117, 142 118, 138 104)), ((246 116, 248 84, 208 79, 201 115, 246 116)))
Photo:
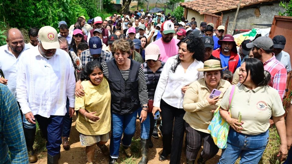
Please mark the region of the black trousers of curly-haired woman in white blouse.
POLYGON ((163 156, 170 154, 170 164, 179 164, 182 153, 182 142, 185 131, 183 109, 172 107, 165 101, 160 103, 161 117, 163 120, 163 156), (174 123, 173 123, 174 121, 174 123), (172 130, 173 129, 173 130, 172 130))

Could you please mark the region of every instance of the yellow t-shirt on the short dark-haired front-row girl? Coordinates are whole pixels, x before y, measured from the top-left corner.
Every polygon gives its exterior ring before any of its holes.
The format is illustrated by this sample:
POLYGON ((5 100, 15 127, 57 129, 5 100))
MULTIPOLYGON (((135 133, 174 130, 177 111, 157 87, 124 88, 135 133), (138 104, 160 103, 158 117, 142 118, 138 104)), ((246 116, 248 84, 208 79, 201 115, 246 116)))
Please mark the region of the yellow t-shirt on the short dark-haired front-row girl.
POLYGON ((89 81, 81 82, 85 96, 75 97, 75 111, 80 108, 87 112, 95 112, 100 120, 93 122, 88 118, 85 120, 84 115, 78 113, 76 120, 76 129, 84 135, 103 135, 110 131, 111 114, 110 101, 111 94, 109 91, 109 83, 103 78, 101 84, 94 86, 89 81))

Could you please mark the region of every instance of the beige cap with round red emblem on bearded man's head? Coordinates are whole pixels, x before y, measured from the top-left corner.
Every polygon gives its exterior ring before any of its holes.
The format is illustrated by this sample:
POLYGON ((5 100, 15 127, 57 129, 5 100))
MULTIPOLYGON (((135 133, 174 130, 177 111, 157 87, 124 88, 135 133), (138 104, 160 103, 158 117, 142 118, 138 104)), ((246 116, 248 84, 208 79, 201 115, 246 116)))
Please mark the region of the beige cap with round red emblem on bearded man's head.
POLYGON ((60 48, 58 33, 56 29, 51 26, 44 26, 40 28, 38 38, 40 39, 45 50, 60 48))

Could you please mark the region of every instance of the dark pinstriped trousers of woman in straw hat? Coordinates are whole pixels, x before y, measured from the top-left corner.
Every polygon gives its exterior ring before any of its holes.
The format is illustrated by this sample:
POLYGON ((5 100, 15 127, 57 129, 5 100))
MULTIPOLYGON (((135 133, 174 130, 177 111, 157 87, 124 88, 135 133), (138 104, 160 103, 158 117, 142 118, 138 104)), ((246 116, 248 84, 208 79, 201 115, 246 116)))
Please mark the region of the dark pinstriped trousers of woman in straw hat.
POLYGON ((213 158, 217 154, 219 148, 215 145, 213 138, 209 133, 197 131, 186 122, 185 127, 187 140, 186 159, 196 160, 197 154, 201 149, 202 141, 204 141, 204 145, 201 156, 204 161, 213 158))

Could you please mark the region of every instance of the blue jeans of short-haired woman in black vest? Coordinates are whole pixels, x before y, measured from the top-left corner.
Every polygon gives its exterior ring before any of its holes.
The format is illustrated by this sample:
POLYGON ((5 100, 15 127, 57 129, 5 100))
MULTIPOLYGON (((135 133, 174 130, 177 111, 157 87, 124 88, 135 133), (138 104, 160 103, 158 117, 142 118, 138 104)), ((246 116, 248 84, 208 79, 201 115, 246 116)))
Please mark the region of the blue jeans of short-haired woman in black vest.
POLYGON ((130 114, 112 113, 112 135, 110 137, 109 155, 119 158, 121 138, 123 146, 130 146, 136 131, 137 110, 130 114))

